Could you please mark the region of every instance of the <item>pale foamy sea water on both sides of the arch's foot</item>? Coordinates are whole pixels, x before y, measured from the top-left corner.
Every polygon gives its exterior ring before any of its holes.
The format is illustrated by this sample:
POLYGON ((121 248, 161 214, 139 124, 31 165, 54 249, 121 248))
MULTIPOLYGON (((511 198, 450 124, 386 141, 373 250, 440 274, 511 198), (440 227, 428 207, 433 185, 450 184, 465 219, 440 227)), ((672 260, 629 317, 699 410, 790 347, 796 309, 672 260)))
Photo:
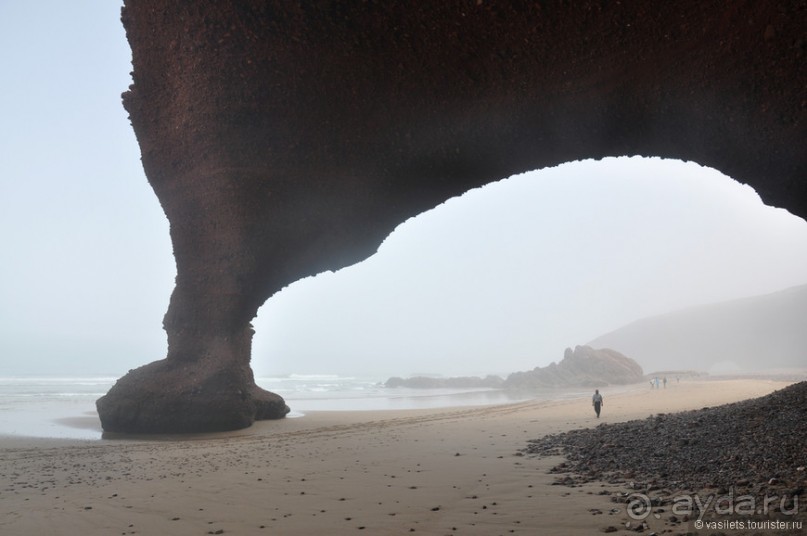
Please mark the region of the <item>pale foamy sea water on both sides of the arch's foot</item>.
MULTIPOLYGON (((100 439, 95 401, 116 377, 0 377, 0 436, 100 439)), ((286 399, 289 418, 311 411, 428 409, 506 404, 526 397, 492 389, 387 388, 386 378, 330 374, 257 377, 286 399)))

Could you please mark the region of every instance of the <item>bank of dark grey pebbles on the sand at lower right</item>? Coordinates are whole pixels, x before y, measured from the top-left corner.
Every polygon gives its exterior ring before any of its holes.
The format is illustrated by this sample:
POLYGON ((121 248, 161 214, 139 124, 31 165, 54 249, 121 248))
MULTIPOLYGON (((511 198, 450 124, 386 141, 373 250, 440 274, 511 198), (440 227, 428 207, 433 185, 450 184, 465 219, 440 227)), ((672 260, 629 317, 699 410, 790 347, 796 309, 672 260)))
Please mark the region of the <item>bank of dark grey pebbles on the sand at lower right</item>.
MULTIPOLYGON (((715 504, 721 504, 713 502, 711 511, 694 505, 694 514, 674 515, 671 510, 680 506, 685 494, 722 497, 724 507, 743 499, 755 503, 749 513, 754 519, 762 513, 763 518, 807 524, 807 382, 734 404, 549 435, 530 440, 519 454, 562 455, 566 461, 552 469, 559 474, 556 484, 612 485, 619 491, 604 489, 602 494, 622 503, 625 513, 640 497, 646 504, 639 506, 654 512, 661 520, 657 523, 667 527, 701 519, 704 513, 706 519, 721 513, 715 511, 715 504), (770 508, 762 512, 759 505, 771 498, 775 500, 770 508)), ((739 507, 730 513, 740 521, 752 519, 738 517, 739 507)), ((646 520, 626 519, 623 528, 649 530, 646 520)), ((616 527, 603 530, 613 532, 616 527)), ((803 526, 795 533, 801 530, 803 526)), ((672 528, 662 530, 668 531, 672 528)))

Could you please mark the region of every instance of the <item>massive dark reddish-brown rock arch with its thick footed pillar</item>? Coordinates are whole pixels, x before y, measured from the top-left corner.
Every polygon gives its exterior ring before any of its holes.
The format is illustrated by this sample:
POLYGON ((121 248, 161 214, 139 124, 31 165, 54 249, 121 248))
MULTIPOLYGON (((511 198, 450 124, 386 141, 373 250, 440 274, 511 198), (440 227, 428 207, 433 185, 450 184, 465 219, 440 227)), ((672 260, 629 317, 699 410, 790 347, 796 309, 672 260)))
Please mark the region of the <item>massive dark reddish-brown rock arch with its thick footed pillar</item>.
POLYGON ((168 355, 98 401, 107 431, 282 417, 249 365, 258 307, 491 180, 652 155, 807 215, 800 0, 126 0, 122 20, 177 280, 168 355))

